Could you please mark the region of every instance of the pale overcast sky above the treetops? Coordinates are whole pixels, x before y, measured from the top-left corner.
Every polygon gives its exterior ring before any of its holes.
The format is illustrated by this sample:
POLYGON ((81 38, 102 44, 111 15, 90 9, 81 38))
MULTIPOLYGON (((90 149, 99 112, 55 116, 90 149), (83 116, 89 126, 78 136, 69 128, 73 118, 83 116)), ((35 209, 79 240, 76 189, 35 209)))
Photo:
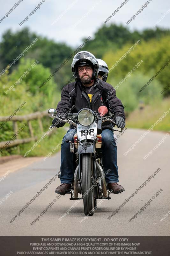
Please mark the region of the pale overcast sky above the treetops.
MULTIPOLYGON (((18 0, 0 0, 0 20, 14 6, 18 0)), ((104 25, 104 21, 117 9, 122 1, 118 0, 23 0, 0 23, 0 37, 7 29, 13 31, 29 27, 38 35, 47 36, 56 42, 65 42, 73 47, 82 42, 82 38, 93 37, 98 28, 104 25), (45 2, 43 2, 45 1, 45 2), (29 17, 22 26, 23 21, 35 7, 42 3, 40 9, 29 17), (51 25, 54 22, 53 25, 51 25), (77 23, 77 24, 76 24, 77 23), (76 24, 76 25, 75 25, 76 24)), ((145 4, 144 0, 129 0, 119 12, 115 13, 107 24, 126 25, 126 22, 145 4)), ((149 4, 136 16, 135 20, 126 25, 130 30, 154 28, 153 25, 170 10, 170 0, 149 0, 149 4)), ((170 11, 159 22, 161 28, 170 28, 170 11)), ((103 38, 104 40, 104 38, 103 38)))

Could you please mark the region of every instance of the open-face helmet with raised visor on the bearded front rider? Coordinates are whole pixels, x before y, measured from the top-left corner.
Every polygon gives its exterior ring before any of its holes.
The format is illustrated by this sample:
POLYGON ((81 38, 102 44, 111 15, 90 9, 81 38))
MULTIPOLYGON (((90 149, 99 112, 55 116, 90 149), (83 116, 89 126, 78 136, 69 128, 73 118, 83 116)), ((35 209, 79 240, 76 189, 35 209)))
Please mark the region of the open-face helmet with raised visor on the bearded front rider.
POLYGON ((86 52, 86 51, 78 52, 74 56, 73 62, 71 64, 73 76, 76 81, 80 81, 80 76, 78 74, 78 67, 87 66, 87 65, 92 66, 92 69, 93 69, 92 80, 96 79, 99 72, 98 61, 96 60, 96 58, 91 52, 86 52))

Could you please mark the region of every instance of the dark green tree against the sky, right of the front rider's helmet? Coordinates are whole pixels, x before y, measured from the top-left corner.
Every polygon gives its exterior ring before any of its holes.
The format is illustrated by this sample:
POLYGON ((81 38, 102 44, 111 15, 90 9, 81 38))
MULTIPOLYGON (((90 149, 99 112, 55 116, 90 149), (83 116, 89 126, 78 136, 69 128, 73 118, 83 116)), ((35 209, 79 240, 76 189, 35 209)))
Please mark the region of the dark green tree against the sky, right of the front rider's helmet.
POLYGON ((108 52, 117 52, 125 44, 134 44, 137 40, 149 41, 153 38, 160 39, 163 36, 170 35, 169 29, 144 29, 143 31, 129 31, 129 28, 123 25, 103 25, 94 34, 94 39, 87 42, 84 50, 92 52, 97 58, 108 52))

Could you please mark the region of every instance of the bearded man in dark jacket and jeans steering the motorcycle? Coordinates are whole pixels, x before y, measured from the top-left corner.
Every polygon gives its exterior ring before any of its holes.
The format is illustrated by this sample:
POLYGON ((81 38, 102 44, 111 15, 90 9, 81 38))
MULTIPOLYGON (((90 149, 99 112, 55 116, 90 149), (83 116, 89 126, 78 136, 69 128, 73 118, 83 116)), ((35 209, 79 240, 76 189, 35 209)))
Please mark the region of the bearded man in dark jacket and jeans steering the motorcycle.
MULTIPOLYGON (((57 117, 66 117, 69 109, 74 106, 70 113, 78 113, 82 108, 90 108, 98 111, 100 106, 106 106, 111 113, 114 113, 114 121, 118 128, 125 126, 124 107, 121 100, 116 97, 115 89, 97 78, 99 65, 94 55, 90 52, 78 52, 71 64, 75 82, 66 85, 61 93, 61 101, 57 104, 57 117)), ((106 116, 109 116, 107 113, 106 116)), ((62 127, 65 122, 58 121, 54 118, 52 124, 55 127, 62 127)), ((70 129, 64 135, 61 144, 61 185, 55 192, 65 195, 67 190, 71 189, 73 182, 74 170, 72 164, 72 153, 70 152, 70 143, 66 143, 66 139, 73 141, 76 129, 70 125, 70 129)), ((102 125, 102 155, 106 183, 109 190, 118 194, 124 191, 119 185, 118 167, 117 167, 117 147, 114 140, 113 125, 105 122, 102 125), (108 172, 109 170, 109 172, 108 172)))

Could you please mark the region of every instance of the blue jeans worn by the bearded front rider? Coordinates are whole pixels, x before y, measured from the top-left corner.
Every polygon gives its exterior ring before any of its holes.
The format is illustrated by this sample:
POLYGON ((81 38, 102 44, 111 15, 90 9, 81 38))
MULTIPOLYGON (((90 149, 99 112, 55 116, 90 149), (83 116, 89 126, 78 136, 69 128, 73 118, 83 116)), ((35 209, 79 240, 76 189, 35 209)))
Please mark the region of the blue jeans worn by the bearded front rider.
MULTIPOLYGON (((64 135, 61 144, 61 183, 72 183, 74 177, 73 170, 73 153, 70 152, 70 143, 66 143, 65 140, 69 139, 73 141, 73 136, 76 133, 75 129, 69 129, 64 135)), ((102 155, 103 155, 103 167, 104 173, 107 172, 105 179, 106 183, 118 182, 118 167, 117 167, 117 146, 113 136, 113 132, 109 129, 105 129, 101 133, 102 136, 102 155)))

